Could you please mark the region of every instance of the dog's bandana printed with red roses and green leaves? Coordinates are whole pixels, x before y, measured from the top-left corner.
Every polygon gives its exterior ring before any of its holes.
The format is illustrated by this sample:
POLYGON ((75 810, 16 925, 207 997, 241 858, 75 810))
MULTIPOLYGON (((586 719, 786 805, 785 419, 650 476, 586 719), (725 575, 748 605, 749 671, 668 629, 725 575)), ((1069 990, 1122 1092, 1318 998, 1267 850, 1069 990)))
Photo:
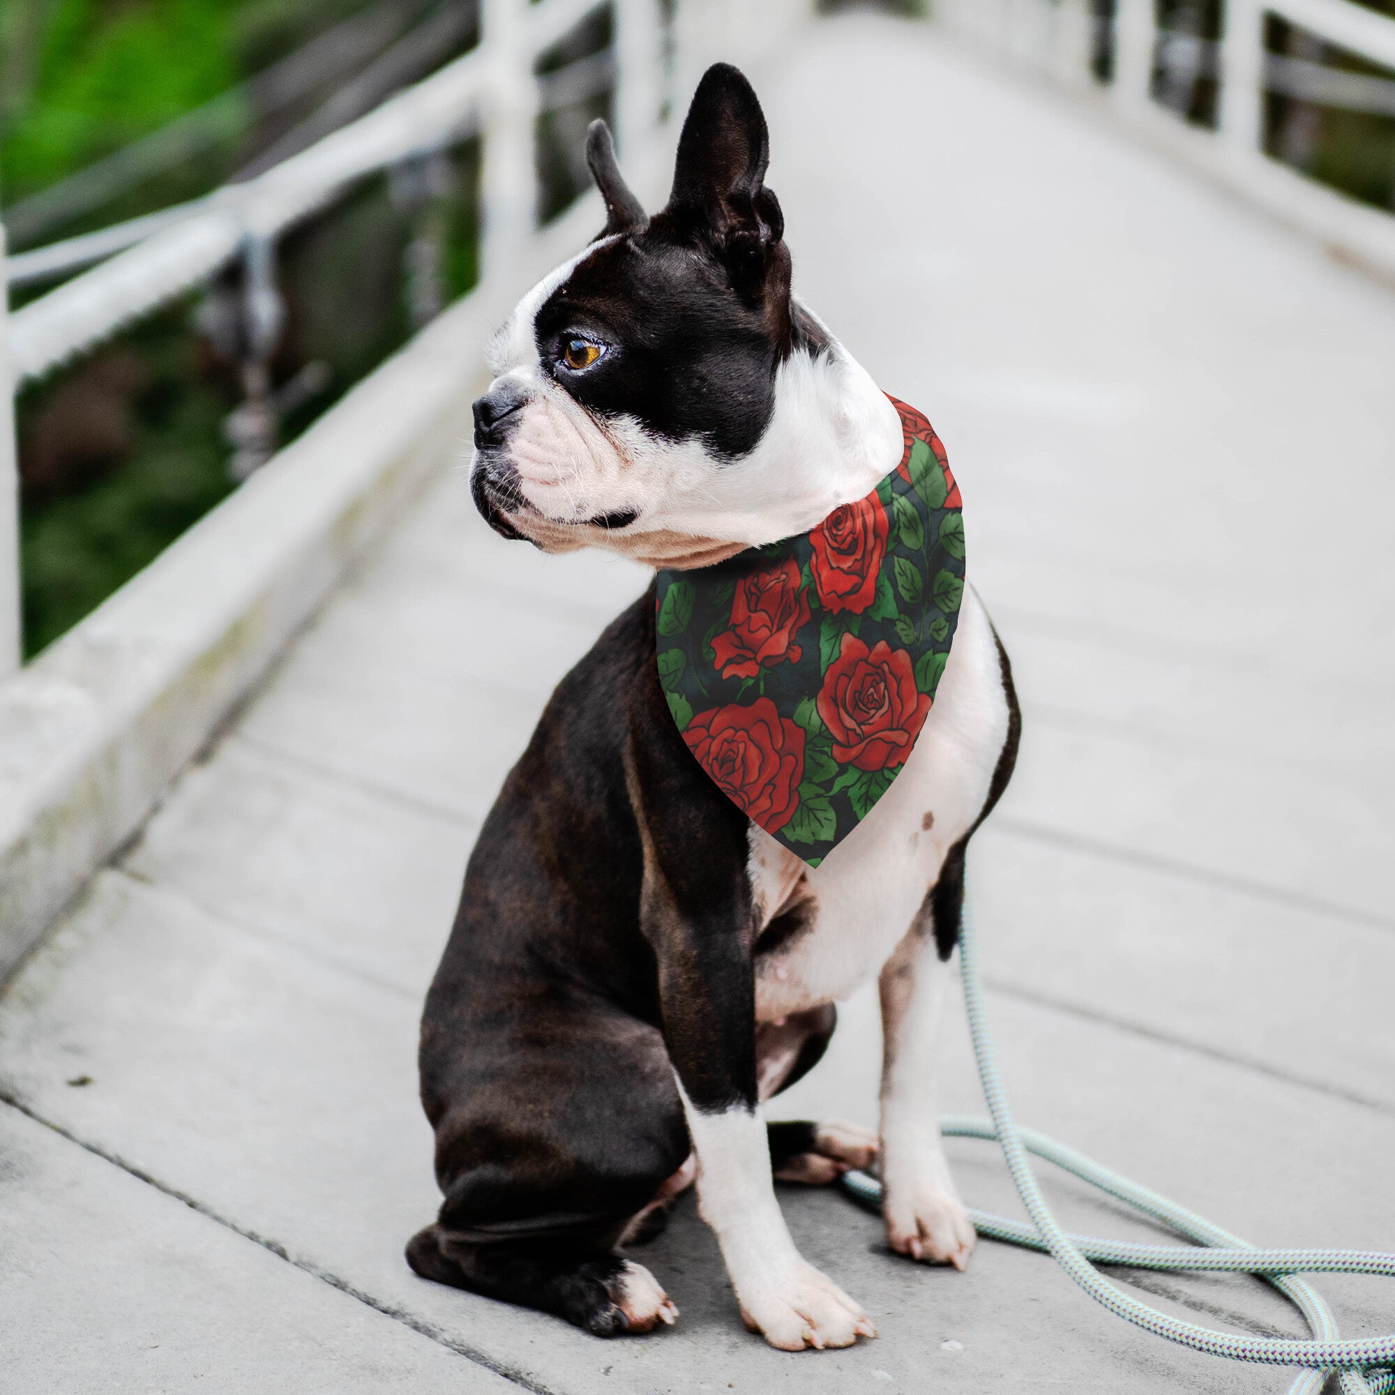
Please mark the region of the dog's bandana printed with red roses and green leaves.
POLYGON ((817 866, 901 771, 964 596, 944 446, 891 398, 901 463, 812 533, 658 573, 658 679, 724 795, 817 866))

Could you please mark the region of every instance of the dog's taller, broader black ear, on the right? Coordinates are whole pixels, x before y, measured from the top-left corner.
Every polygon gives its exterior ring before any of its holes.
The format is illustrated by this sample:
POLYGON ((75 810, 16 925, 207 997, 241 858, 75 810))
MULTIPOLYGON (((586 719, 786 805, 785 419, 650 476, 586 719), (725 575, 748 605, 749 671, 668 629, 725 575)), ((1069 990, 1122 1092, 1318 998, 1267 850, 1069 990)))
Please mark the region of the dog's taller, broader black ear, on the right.
POLYGON ((769 163, 770 133, 755 89, 730 63, 714 63, 678 138, 667 212, 706 236, 738 289, 760 286, 784 236, 780 201, 762 183, 769 163))

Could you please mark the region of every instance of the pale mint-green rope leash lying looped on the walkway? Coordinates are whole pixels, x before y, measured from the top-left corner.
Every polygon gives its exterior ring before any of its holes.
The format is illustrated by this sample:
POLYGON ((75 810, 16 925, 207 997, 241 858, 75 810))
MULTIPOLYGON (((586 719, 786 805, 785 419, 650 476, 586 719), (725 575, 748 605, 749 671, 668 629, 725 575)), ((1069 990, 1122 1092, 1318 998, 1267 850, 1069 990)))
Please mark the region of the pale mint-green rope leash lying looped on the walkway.
MULTIPOLYGON (((978 1062, 979 1081, 992 1120, 947 1115, 940 1120, 940 1133, 951 1138, 996 1140, 1003 1149, 1017 1196, 1032 1221, 1032 1225, 1023 1225, 1006 1216, 970 1209, 970 1219, 979 1235, 1050 1254, 1096 1303, 1116 1317, 1165 1336, 1170 1342, 1239 1362, 1304 1367, 1289 1387, 1289 1395, 1318 1395, 1332 1371, 1338 1373, 1343 1395, 1395 1392, 1395 1371, 1380 1368, 1395 1366, 1395 1334, 1343 1341, 1322 1296, 1306 1279, 1295 1278, 1297 1274, 1375 1274, 1395 1278, 1395 1254, 1366 1250, 1258 1250, 1194 1211, 1120 1176, 1074 1148, 1032 1129, 1018 1127, 1007 1102, 988 1025, 978 939, 967 896, 960 930, 960 975, 964 981, 964 1004, 974 1041, 974 1059, 978 1062), (1046 1204, 1028 1154, 1045 1158, 1196 1243, 1137 1244, 1127 1240, 1069 1235, 1046 1204), (1299 1310, 1313 1336, 1310 1339, 1237 1336, 1196 1322, 1184 1322, 1123 1293, 1091 1264, 1092 1260, 1138 1269, 1253 1274, 1268 1282, 1299 1310)), ((845 1173, 843 1187, 859 1204, 869 1209, 880 1209, 882 1183, 868 1173, 845 1173)))

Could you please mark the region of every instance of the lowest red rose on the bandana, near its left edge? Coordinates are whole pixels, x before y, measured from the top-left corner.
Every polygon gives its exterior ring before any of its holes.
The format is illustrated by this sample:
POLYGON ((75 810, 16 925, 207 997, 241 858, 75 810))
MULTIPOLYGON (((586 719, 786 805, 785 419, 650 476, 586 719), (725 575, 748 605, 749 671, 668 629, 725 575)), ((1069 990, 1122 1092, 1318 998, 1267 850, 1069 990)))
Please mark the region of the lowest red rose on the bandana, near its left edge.
POLYGON ((777 833, 799 808, 804 731, 769 698, 700 711, 684 731, 688 749, 718 790, 766 833, 777 833))

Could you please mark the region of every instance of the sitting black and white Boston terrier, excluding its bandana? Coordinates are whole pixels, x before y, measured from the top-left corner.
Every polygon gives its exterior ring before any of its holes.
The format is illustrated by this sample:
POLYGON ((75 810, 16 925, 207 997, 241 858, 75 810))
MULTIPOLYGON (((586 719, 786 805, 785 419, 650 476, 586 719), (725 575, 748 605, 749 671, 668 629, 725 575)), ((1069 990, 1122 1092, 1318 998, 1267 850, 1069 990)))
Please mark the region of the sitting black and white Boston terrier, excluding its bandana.
MULTIPOLYGON (((605 232, 523 297, 474 403, 472 485, 497 531, 696 568, 813 527, 897 466, 890 400, 791 296, 767 144, 746 80, 710 68, 646 218, 593 127, 605 232)), ((964 847, 1017 751, 1007 658, 967 590, 901 776, 810 869, 698 766, 654 654, 650 587, 558 686, 485 820, 423 1018, 445 1200, 407 1258, 598 1335, 644 1332, 677 1310, 617 1247, 696 1179, 746 1325, 848 1346, 872 1324, 801 1258, 771 1177, 876 1159, 893 1249, 968 1262, 936 1036, 964 847), (880 1136, 767 1127, 762 1101, 873 974, 880 1136)))

